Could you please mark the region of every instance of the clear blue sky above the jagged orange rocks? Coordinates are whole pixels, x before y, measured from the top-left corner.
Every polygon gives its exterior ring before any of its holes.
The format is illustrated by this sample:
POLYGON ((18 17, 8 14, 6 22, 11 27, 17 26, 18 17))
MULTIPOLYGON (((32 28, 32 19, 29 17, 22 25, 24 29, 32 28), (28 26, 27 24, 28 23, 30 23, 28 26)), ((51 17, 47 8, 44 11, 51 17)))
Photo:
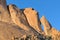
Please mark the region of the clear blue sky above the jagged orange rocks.
POLYGON ((60 30, 60 0, 7 0, 7 4, 15 4, 18 8, 32 7, 43 15, 51 25, 60 30))

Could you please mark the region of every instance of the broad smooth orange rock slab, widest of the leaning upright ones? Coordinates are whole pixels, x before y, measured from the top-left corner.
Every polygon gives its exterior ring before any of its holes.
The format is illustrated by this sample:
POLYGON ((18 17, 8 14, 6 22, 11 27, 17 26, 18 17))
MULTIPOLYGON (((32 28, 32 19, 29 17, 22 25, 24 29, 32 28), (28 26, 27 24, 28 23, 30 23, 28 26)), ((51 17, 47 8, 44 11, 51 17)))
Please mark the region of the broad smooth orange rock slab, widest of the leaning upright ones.
POLYGON ((39 23, 38 13, 32 8, 25 8, 24 14, 32 28, 34 28, 37 32, 41 32, 41 26, 39 23))

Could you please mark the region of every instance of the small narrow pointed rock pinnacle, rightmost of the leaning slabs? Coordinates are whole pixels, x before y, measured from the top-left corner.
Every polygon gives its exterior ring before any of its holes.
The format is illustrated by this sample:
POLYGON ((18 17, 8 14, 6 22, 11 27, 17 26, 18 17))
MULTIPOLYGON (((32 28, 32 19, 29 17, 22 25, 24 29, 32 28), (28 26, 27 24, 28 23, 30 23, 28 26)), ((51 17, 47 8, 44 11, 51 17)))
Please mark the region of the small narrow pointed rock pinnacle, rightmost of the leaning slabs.
POLYGON ((46 35, 49 35, 49 31, 52 28, 52 26, 49 24, 49 22, 46 20, 44 16, 40 19, 42 25, 44 26, 44 32, 46 35))

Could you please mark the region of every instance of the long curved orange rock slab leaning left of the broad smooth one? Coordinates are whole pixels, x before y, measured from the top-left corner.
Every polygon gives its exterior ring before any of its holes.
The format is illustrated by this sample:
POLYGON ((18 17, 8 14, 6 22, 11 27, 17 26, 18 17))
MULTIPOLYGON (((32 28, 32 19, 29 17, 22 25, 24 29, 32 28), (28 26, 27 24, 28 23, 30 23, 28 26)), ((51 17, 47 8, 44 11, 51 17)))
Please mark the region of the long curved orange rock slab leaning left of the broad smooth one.
POLYGON ((13 6, 13 5, 9 5, 9 10, 10 10, 12 21, 16 25, 20 26, 20 28, 22 28, 22 29, 24 29, 26 31, 29 31, 30 29, 21 22, 24 19, 23 19, 22 15, 21 15, 22 13, 19 12, 20 10, 18 11, 17 8, 15 6, 13 6))

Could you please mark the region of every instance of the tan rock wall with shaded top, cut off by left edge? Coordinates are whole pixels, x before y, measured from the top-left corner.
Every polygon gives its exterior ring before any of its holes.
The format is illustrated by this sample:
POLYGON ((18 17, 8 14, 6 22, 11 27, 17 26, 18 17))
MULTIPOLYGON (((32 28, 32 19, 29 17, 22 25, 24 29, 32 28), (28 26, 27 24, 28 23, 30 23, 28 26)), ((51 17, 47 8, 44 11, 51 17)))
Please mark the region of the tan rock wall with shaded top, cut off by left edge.
POLYGON ((11 22, 6 0, 0 0, 0 21, 11 22))

